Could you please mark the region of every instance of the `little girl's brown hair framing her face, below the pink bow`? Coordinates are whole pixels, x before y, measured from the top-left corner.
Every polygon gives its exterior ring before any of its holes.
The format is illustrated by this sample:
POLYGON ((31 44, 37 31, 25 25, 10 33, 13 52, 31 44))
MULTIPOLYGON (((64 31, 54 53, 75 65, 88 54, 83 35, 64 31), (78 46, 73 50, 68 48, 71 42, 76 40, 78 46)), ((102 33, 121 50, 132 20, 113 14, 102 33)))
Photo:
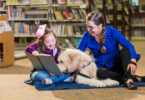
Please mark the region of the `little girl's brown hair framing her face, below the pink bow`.
MULTIPOLYGON (((44 45, 44 39, 45 39, 45 37, 46 37, 47 34, 53 34, 53 36, 54 36, 55 39, 56 39, 56 35, 55 35, 55 33, 54 33, 52 30, 45 29, 45 32, 44 32, 43 36, 41 36, 41 38, 38 39, 38 41, 37 41, 37 44, 38 44, 38 52, 39 52, 39 53, 44 53, 45 50, 47 49, 47 48, 45 47, 45 45, 44 45)), ((55 47, 56 47, 56 48, 59 47, 59 46, 58 46, 58 41, 57 41, 57 39, 56 39, 56 45, 55 45, 55 47)))

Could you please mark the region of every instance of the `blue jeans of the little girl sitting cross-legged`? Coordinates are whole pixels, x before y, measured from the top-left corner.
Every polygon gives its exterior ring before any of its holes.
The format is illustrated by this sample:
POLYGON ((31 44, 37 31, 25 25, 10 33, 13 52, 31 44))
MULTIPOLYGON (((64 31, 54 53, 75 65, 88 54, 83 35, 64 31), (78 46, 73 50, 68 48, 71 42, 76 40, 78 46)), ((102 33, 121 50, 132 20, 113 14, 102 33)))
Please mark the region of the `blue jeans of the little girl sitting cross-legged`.
POLYGON ((34 71, 30 75, 30 78, 33 82, 41 82, 43 79, 50 78, 53 80, 53 83, 58 83, 63 82, 68 77, 70 77, 70 74, 51 76, 46 71, 34 71))

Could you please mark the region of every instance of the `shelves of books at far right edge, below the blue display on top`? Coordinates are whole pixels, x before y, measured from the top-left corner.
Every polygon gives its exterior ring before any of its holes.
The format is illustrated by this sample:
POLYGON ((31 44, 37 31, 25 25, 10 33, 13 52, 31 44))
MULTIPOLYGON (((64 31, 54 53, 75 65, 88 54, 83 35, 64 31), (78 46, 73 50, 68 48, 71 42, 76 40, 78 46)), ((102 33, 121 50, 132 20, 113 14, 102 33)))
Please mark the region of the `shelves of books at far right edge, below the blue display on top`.
POLYGON ((132 13, 132 39, 145 40, 145 12, 132 13))

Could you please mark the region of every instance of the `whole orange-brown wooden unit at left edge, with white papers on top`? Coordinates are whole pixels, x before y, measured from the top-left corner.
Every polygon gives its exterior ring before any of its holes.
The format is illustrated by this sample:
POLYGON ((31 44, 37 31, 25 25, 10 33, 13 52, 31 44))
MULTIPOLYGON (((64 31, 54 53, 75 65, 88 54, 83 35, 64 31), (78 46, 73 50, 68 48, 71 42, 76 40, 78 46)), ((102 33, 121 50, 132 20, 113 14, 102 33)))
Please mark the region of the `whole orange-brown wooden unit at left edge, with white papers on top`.
POLYGON ((14 34, 8 29, 6 16, 0 16, 0 68, 14 64, 14 34))

